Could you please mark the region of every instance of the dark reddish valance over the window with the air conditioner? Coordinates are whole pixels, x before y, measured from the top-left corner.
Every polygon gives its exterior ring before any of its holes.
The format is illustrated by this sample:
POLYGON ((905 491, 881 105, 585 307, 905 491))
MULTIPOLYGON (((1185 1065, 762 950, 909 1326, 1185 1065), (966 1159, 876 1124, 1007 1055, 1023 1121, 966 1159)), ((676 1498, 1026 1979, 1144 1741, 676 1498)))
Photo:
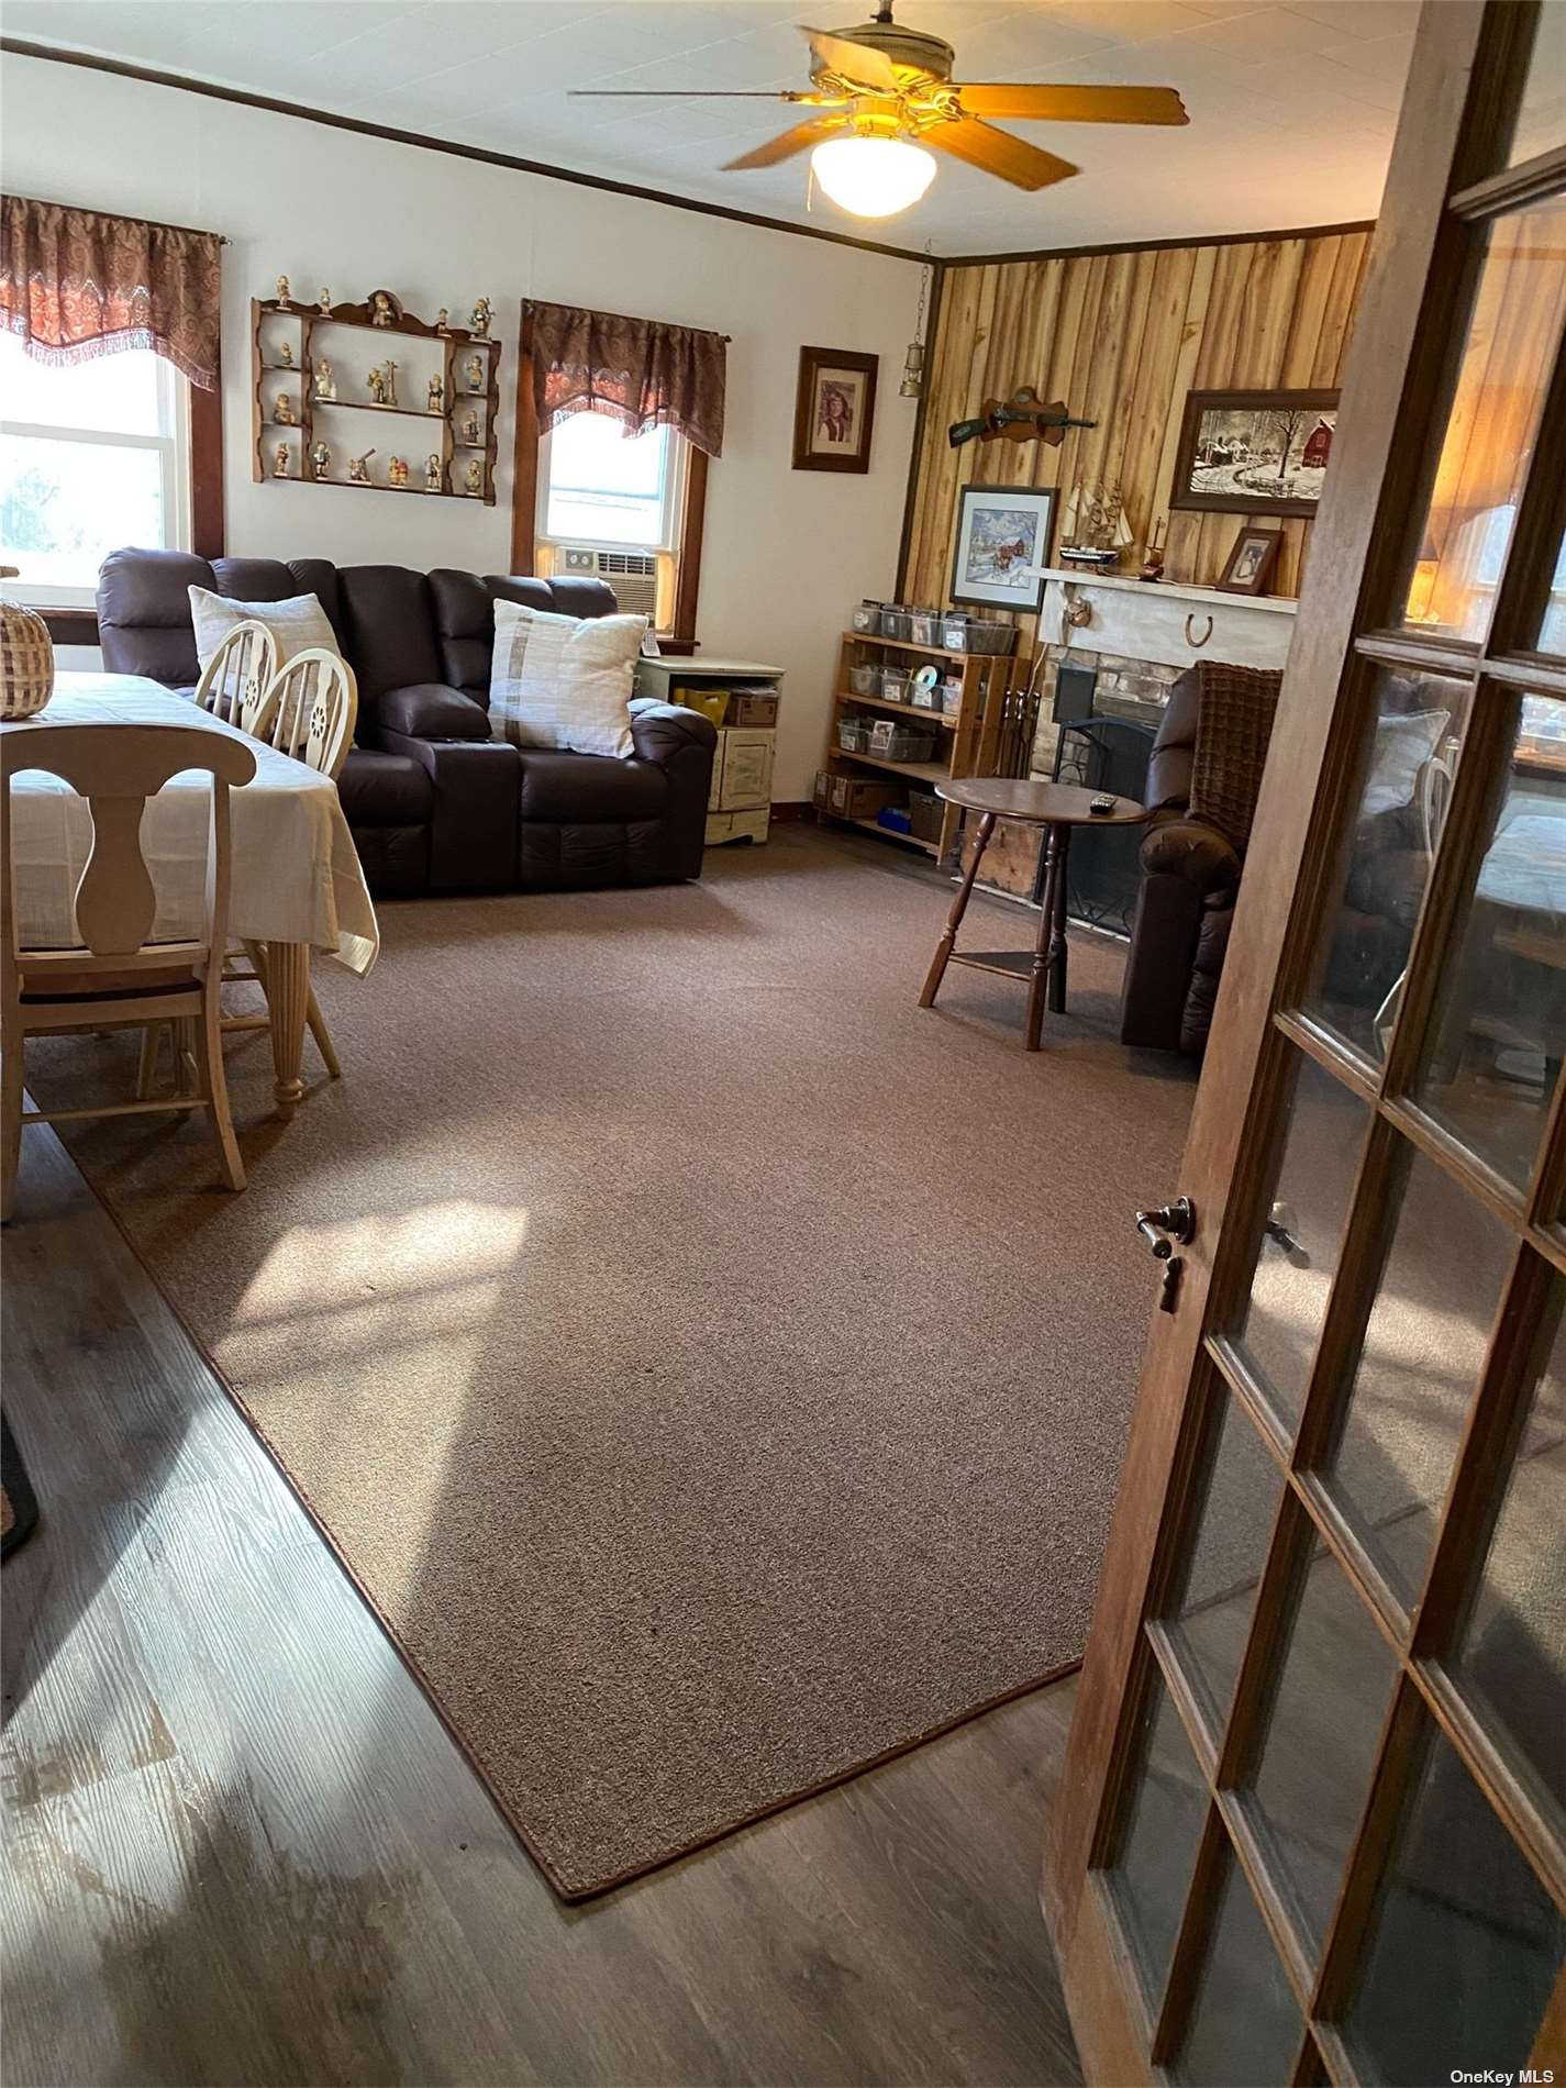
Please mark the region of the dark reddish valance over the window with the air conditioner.
POLYGON ((727 334, 528 299, 522 338, 541 432, 570 413, 612 413, 628 434, 677 428, 710 457, 722 455, 727 334))

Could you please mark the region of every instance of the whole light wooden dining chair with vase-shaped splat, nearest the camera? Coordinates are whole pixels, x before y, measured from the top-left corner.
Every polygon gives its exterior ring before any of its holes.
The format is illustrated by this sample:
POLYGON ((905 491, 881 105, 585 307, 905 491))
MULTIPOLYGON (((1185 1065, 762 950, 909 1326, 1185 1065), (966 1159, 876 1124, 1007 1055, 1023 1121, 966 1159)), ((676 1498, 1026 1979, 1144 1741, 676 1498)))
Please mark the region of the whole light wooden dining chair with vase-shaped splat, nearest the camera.
POLYGON ((242 739, 188 725, 40 720, 0 733, 0 869, 6 873, 0 883, 0 1217, 10 1217, 15 1207, 23 1123, 205 1109, 223 1182, 244 1188, 223 1082, 219 988, 228 948, 228 793, 253 775, 255 754, 242 739), (33 768, 86 798, 92 814, 92 852, 75 887, 79 942, 69 948, 25 948, 15 912, 10 791, 15 777, 33 768), (169 777, 192 768, 211 777, 213 793, 207 915, 196 935, 150 942, 157 892, 142 856, 142 814, 169 777), (29 1036, 163 1023, 190 1044, 190 1079, 180 1094, 23 1111, 29 1036))

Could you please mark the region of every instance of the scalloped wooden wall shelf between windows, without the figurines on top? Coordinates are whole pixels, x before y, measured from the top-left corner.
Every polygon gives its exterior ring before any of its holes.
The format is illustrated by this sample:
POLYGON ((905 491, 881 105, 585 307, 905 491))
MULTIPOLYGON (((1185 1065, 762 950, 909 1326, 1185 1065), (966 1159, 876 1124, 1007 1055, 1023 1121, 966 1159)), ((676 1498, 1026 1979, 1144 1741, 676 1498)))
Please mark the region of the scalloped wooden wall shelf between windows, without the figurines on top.
MULTIPOLYGON (((294 299, 251 299, 251 367, 253 367, 253 455, 251 472, 257 482, 282 487, 351 487, 355 493, 413 493, 420 499, 480 501, 495 505, 495 461, 499 455, 499 363, 501 345, 489 336, 470 332, 466 326, 430 326, 405 313, 390 290, 374 290, 361 305, 332 305, 324 309, 294 299), (380 317, 376 317, 380 313, 380 317), (357 338, 355 338, 357 336, 357 338), (280 342, 294 351, 292 363, 276 359, 280 342), (397 355, 397 345, 407 340, 434 342, 436 355, 424 351, 418 367, 399 363, 399 382, 424 393, 430 378, 441 378, 445 407, 434 413, 420 405, 380 405, 374 399, 322 399, 315 390, 315 370, 322 357, 332 363, 332 382, 361 386, 370 363, 382 363, 386 355, 397 355), (482 357, 482 384, 478 390, 468 382, 468 361, 482 357), (355 357, 355 363, 349 363, 355 357), (365 367, 357 367, 363 357, 365 367), (276 395, 286 390, 294 407, 292 420, 276 418, 276 395), (386 449, 370 466, 370 478, 349 478, 349 445, 334 432, 338 413, 380 413, 384 420, 422 420, 430 424, 430 441, 424 453, 407 457, 407 484, 388 482, 386 470, 393 451, 386 449), (459 428, 468 413, 480 416, 482 441, 461 441, 459 428), (434 430, 438 443, 434 441, 434 430), (294 447, 294 438, 299 447, 294 447), (278 443, 288 438, 292 468, 284 478, 274 472, 278 443), (311 449, 324 441, 332 449, 330 478, 317 478, 311 466, 311 449), (426 484, 426 466, 438 455, 441 484, 426 484), (470 493, 464 480, 453 482, 457 457, 482 459, 482 480, 470 493)), ((370 430, 365 430, 370 432, 370 430)), ((365 445, 378 449, 374 438, 365 445)))

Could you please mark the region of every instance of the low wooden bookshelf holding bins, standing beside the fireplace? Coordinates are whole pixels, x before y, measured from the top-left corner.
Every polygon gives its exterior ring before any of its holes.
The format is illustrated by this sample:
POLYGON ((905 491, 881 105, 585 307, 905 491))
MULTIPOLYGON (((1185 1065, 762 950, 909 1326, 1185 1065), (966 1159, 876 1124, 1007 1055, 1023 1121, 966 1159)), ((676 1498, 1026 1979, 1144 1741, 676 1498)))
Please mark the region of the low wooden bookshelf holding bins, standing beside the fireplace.
MULTIPOLYGON (((965 654, 946 651, 942 645, 910 645, 904 639, 864 637, 858 631, 844 631, 837 649, 837 689, 831 706, 831 739, 827 745, 827 766, 835 775, 879 770, 883 775, 906 777, 908 783, 931 787, 948 777, 992 775, 1000 758, 1000 727, 1004 714, 1006 681, 1017 666, 1015 654, 965 654), (908 660, 921 666, 925 660, 942 668, 942 679, 956 672, 963 681, 963 702, 956 712, 917 710, 912 704, 898 704, 885 695, 854 695, 850 670, 856 666, 883 666, 889 658, 908 660), (892 762, 883 754, 848 754, 837 745, 837 720, 844 712, 877 712, 906 718, 919 729, 935 729, 938 748, 944 760, 892 762)), ((835 818, 835 814, 827 814, 835 818)), ((873 818, 837 818, 841 827, 862 827, 885 841, 902 841, 906 848, 921 848, 927 856, 944 862, 956 841, 956 806, 942 806, 940 841, 925 841, 915 833, 896 833, 873 818)))

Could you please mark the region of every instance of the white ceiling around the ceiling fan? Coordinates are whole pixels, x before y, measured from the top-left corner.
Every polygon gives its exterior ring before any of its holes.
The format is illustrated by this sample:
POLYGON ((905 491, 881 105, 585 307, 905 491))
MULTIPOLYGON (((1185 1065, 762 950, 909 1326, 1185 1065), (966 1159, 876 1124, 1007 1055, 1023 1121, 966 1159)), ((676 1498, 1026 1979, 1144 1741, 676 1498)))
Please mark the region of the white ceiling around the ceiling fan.
POLYGON ((956 46, 958 79, 1173 86, 1190 127, 1017 123, 1082 175, 1029 196, 942 159, 925 200, 879 228, 825 196, 808 213, 804 157, 718 171, 796 121, 785 104, 566 94, 802 88, 798 23, 837 27, 854 13, 852 0, 4 0, 4 31, 666 194, 969 255, 1374 217, 1418 0, 906 0, 910 27, 956 46))

